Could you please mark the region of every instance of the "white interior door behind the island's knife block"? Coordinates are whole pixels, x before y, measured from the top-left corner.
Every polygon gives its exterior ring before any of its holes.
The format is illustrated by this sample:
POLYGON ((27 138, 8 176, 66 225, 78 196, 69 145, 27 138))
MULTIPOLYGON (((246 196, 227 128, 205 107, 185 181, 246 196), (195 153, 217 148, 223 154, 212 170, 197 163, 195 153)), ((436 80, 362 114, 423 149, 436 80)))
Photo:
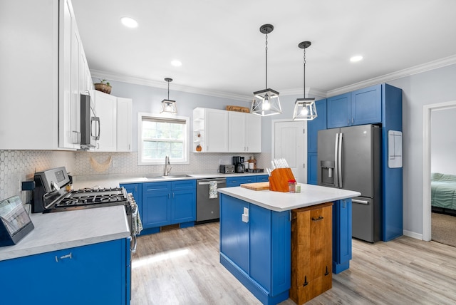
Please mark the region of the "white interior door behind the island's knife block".
POLYGON ((307 183, 307 138, 304 134, 305 121, 273 121, 272 158, 283 157, 288 162, 297 182, 307 183))

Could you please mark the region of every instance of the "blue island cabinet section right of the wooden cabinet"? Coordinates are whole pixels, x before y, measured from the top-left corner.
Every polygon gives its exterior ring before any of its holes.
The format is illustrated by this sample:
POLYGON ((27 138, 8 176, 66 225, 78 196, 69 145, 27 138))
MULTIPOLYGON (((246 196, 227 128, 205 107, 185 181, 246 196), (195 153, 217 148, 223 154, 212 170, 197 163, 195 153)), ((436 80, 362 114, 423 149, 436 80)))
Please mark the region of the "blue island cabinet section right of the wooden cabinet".
POLYGON ((333 273, 350 268, 351 260, 351 199, 333 205, 333 273))

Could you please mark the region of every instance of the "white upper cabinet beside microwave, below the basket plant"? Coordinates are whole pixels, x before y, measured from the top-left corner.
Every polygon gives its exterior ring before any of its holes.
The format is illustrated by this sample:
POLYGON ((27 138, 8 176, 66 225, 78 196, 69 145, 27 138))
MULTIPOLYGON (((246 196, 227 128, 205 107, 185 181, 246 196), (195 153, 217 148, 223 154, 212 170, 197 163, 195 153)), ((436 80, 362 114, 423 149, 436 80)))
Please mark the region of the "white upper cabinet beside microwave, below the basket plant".
POLYGON ((100 118, 100 140, 95 152, 117 151, 117 98, 95 91, 95 115, 100 118))

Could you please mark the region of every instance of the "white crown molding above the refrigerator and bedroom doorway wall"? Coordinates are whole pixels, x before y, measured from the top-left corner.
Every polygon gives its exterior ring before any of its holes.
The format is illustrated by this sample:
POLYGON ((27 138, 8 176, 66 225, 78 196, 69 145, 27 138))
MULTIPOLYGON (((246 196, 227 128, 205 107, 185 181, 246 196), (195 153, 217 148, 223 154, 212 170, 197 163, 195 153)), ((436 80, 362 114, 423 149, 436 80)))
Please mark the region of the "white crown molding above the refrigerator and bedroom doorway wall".
POLYGON ((378 76, 376 78, 371 78, 366 81, 361 81, 359 83, 353 83, 349 86, 344 86, 341 88, 336 88, 327 92, 326 97, 331 97, 334 95, 347 93, 350 91, 355 91, 361 88, 366 88, 368 86, 373 86, 378 83, 387 83, 388 81, 393 81, 398 78, 403 78, 406 76, 413 76, 418 73, 423 73, 426 71, 434 70, 437 68, 442 68, 445 66, 451 66, 456 63, 456 55, 448 56, 445 58, 437 59, 436 61, 430 61, 429 63, 423 63, 422 65, 414 66, 412 68, 406 68, 400 71, 393 73, 385 74, 384 76, 378 76))

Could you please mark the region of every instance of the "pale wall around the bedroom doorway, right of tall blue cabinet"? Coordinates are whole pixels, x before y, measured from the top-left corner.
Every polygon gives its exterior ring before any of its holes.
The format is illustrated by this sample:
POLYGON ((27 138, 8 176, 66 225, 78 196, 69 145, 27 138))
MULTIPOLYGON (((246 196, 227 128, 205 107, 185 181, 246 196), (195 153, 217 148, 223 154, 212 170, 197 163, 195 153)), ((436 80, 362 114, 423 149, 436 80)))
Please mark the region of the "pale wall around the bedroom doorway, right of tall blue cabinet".
POLYGON ((388 81, 403 90, 404 230, 409 232, 423 234, 423 105, 456 100, 455 80, 452 65, 388 81))

